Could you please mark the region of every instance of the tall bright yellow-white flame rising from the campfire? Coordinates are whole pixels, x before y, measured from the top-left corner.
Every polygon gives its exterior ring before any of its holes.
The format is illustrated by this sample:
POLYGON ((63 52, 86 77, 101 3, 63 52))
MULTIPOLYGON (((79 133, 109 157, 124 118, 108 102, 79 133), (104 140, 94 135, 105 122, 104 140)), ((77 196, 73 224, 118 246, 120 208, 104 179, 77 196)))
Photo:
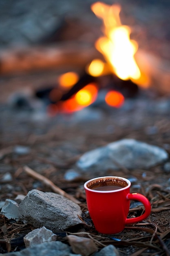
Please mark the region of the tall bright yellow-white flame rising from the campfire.
POLYGON ((137 42, 130 39, 130 27, 122 25, 119 4, 108 5, 96 2, 91 5, 95 15, 103 20, 105 36, 99 38, 95 47, 109 63, 112 72, 120 79, 131 79, 139 85, 148 86, 149 79, 141 74, 135 61, 137 42))

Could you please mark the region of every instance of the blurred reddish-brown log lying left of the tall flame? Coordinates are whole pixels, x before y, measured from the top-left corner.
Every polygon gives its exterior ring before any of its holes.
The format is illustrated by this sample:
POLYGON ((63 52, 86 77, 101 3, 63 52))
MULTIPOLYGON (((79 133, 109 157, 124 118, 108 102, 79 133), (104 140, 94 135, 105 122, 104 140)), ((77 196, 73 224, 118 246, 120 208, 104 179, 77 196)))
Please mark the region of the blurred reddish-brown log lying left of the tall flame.
POLYGON ((0 74, 11 75, 51 69, 85 67, 99 53, 91 45, 68 42, 0 51, 0 74))

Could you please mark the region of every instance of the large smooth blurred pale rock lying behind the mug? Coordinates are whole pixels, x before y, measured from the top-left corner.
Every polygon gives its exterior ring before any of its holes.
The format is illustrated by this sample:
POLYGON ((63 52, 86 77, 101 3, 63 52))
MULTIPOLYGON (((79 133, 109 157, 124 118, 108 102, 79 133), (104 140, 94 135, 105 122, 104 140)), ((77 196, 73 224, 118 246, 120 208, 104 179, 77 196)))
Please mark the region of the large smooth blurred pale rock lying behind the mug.
POLYGON ((77 161, 77 166, 82 171, 93 171, 94 174, 96 171, 118 170, 119 165, 128 169, 149 168, 166 159, 168 153, 158 146, 135 139, 122 139, 86 152, 77 161))

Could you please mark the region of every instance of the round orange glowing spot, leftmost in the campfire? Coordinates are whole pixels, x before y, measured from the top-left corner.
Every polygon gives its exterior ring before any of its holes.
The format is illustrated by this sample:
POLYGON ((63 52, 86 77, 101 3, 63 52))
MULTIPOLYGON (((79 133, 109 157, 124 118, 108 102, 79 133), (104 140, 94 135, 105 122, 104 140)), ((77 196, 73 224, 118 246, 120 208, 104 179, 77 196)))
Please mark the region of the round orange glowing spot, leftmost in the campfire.
POLYGON ((59 85, 62 88, 71 88, 73 85, 75 85, 75 83, 77 83, 79 79, 79 76, 77 73, 75 72, 67 72, 65 74, 62 74, 59 78, 58 78, 58 82, 59 85))

